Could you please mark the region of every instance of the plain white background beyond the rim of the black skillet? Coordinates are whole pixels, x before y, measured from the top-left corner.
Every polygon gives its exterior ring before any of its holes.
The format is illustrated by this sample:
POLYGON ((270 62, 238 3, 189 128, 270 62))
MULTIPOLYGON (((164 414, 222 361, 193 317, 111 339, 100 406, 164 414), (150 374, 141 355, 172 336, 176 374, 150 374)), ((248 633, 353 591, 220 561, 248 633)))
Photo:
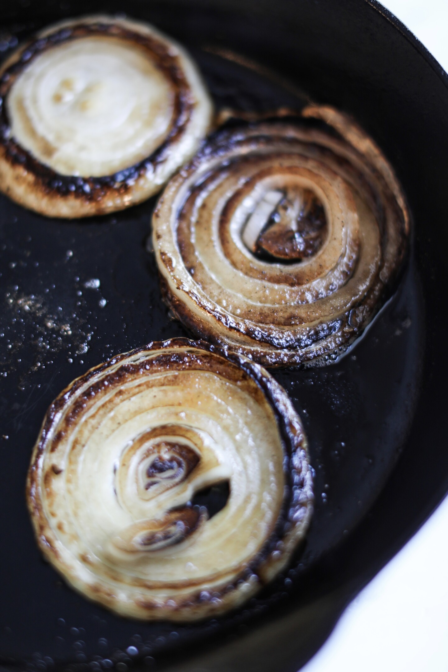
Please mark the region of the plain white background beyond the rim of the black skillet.
MULTIPOLYGON (((448 71, 448 0, 382 4, 448 71)), ((448 497, 301 672, 448 672, 448 497)))

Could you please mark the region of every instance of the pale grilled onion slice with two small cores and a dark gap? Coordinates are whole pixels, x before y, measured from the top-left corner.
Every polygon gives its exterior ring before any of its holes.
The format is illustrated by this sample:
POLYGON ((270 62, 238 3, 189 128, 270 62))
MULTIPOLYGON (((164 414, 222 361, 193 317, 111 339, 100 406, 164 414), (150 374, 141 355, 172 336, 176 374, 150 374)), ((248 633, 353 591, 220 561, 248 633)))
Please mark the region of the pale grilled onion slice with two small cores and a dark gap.
POLYGON ((302 424, 241 355, 152 343, 87 372, 50 407, 28 473, 46 558, 124 616, 222 614, 288 562, 312 514, 302 424), (227 481, 209 517, 198 491, 227 481))

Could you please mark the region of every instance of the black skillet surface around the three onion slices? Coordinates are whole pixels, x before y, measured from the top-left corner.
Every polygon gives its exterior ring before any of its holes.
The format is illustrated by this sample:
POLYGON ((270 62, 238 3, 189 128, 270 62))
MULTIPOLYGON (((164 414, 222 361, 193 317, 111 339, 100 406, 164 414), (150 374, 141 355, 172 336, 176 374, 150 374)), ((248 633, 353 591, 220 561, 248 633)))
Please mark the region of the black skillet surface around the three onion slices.
POLYGON ((44 412, 66 384, 114 353, 183 334, 145 247, 154 200, 79 224, 0 199, 0 666, 293 671, 448 489, 448 78, 364 0, 22 0, 3 9, 0 49, 62 16, 124 9, 186 44, 220 104, 300 106, 300 86, 352 112, 404 185, 414 249, 396 295, 346 358, 276 374, 304 420, 316 470, 314 521, 292 569, 219 621, 148 625, 89 603, 43 562, 24 482, 44 412))

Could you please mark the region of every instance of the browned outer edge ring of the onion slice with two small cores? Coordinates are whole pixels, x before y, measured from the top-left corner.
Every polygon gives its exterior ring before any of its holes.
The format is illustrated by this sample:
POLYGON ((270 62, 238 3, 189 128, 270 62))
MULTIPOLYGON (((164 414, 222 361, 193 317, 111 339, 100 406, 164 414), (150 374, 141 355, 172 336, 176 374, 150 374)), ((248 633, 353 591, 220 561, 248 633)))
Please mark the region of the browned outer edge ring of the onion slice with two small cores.
MULTIPOLYGON (((144 603, 143 601, 139 601, 138 606, 143 607, 146 610, 146 615, 139 617, 142 618, 142 620, 158 620, 159 618, 168 618, 169 620, 178 622, 199 620, 209 618, 214 614, 223 614, 232 607, 240 605, 243 601, 252 597, 255 592, 263 587, 263 585, 269 583, 271 579, 265 579, 265 573, 269 571, 271 565, 277 565, 278 569, 275 570, 275 574, 277 574, 283 569, 283 566, 287 564, 292 557, 294 550, 303 540, 306 531, 308 530, 313 511, 314 495, 312 470, 309 466, 308 444, 302 421, 296 413, 292 402, 289 400, 287 393, 279 383, 277 383, 273 376, 258 364, 251 362, 244 355, 228 352, 206 341, 193 341, 183 337, 168 339, 166 341, 152 341, 144 347, 139 347, 129 352, 122 353, 111 358, 111 360, 107 360, 103 364, 91 368, 83 374, 83 376, 73 380, 69 386, 58 394, 52 405, 50 405, 42 423, 38 441, 34 446, 26 481, 26 501, 28 511, 32 518, 36 541, 44 556, 58 571, 60 571, 60 573, 62 573, 64 579, 79 591, 79 588, 75 585, 76 582, 72 581, 71 571, 67 572, 66 565, 60 560, 60 555, 55 543, 56 538, 44 513, 41 496, 42 468, 39 468, 38 463, 46 450, 48 435, 51 435, 52 429, 58 424, 60 412, 70 403, 71 398, 73 398, 79 388, 87 384, 90 380, 93 380, 98 374, 106 372, 109 367, 116 366, 117 364, 120 364, 120 362, 126 362, 128 358, 138 355, 138 353, 143 354, 147 352, 150 354, 152 351, 177 347, 182 349, 201 349, 208 353, 212 353, 224 360, 225 364, 230 362, 233 365, 236 365, 237 368, 242 370, 244 374, 247 374, 257 386, 259 386, 273 410, 281 436, 281 445, 284 456, 283 475, 285 478, 285 488, 283 489, 283 501, 281 511, 275 524, 275 529, 263 545, 261 551, 251 562, 249 562, 249 564, 241 569, 234 581, 214 589, 213 592, 215 597, 216 593, 219 593, 222 602, 220 607, 216 607, 210 599, 204 599, 203 593, 197 591, 197 589, 195 590, 193 587, 194 582, 192 582, 193 589, 191 593, 178 599, 175 602, 175 605, 173 605, 172 597, 167 600, 170 604, 168 605, 165 603, 162 607, 159 604, 155 605, 151 602, 144 603), (294 414, 294 422, 290 419, 290 414, 294 414), (294 461, 296 461, 295 466, 294 461), (294 480, 295 478, 296 480, 294 480), (301 483, 301 485, 298 486, 298 482, 301 483), (302 497, 300 497, 299 503, 294 504, 294 493, 297 493, 298 490, 300 490, 302 497), (300 521, 294 523, 294 521, 292 521, 292 516, 296 511, 302 508, 306 509, 304 516, 300 521), (286 548, 283 548, 284 541, 289 541, 289 546, 286 544, 286 548), (290 548, 291 542, 294 544, 294 548, 290 548), (279 562, 279 558, 273 555, 275 553, 278 554, 279 552, 282 554, 282 562, 279 562), (250 593, 247 598, 243 597, 241 599, 241 597, 236 597, 238 582, 240 583, 249 577, 253 577, 253 575, 257 577, 256 590, 250 593)), ((173 368, 175 368, 175 364, 176 363, 173 363, 173 368)), ((177 364, 180 368, 181 364, 179 364, 179 362, 177 362, 177 364)), ((120 371, 120 369, 118 371, 120 371)), ((122 376, 118 376, 118 378, 120 379, 122 376)), ((60 431, 63 431, 63 428, 60 429, 60 431)), ((57 438, 55 440, 57 440, 57 438)), ((122 614, 119 608, 120 600, 105 587, 102 585, 97 585, 93 588, 92 586, 89 586, 89 591, 94 593, 94 596, 87 596, 83 591, 80 592, 85 597, 89 597, 89 599, 105 605, 112 611, 116 611, 118 614, 122 614)))

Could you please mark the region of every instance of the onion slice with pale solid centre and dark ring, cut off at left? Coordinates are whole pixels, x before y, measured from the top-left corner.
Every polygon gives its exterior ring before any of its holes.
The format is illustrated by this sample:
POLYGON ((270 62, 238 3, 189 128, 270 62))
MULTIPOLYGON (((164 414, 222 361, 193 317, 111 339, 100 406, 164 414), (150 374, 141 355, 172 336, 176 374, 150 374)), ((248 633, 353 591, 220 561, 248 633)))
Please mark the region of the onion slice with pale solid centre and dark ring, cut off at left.
POLYGON ((208 130, 210 99, 183 48, 146 24, 56 24, 0 71, 0 186, 60 217, 158 192, 208 130))

